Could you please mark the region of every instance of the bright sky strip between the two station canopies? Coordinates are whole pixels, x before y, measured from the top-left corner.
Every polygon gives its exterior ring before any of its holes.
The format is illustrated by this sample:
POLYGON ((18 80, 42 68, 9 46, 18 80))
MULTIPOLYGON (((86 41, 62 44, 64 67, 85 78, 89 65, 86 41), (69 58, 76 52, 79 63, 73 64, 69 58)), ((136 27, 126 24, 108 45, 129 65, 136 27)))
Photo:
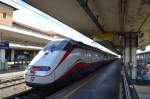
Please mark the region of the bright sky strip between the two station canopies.
POLYGON ((44 31, 53 31, 61 35, 64 35, 68 38, 72 38, 76 41, 81 41, 87 45, 92 45, 93 47, 97 47, 106 52, 115 54, 109 49, 94 42, 92 39, 82 35, 78 31, 70 28, 69 26, 65 25, 64 23, 61 23, 60 21, 54 19, 53 17, 43 13, 42 11, 33 8, 32 6, 26 4, 21 0, 1 0, 1 1, 19 9, 13 13, 14 21, 18 21, 23 24, 33 26, 35 28, 39 28, 44 31))

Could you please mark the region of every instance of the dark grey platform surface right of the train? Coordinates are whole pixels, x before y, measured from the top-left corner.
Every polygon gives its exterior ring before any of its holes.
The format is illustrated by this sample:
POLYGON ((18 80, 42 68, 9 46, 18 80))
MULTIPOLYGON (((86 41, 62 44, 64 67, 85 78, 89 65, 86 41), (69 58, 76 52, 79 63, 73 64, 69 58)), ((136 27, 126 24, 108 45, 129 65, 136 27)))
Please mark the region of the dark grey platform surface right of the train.
POLYGON ((115 61, 47 99, 118 99, 120 65, 115 61))

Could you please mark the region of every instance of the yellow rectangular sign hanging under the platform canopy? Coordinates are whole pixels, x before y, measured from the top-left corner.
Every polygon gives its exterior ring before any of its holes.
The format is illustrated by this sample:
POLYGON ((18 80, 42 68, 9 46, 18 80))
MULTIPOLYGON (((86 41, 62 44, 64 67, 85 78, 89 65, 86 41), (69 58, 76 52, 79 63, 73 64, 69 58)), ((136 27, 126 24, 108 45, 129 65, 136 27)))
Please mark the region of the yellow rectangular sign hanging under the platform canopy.
POLYGON ((96 34, 94 39, 95 40, 112 40, 113 39, 113 34, 111 34, 111 33, 96 34))

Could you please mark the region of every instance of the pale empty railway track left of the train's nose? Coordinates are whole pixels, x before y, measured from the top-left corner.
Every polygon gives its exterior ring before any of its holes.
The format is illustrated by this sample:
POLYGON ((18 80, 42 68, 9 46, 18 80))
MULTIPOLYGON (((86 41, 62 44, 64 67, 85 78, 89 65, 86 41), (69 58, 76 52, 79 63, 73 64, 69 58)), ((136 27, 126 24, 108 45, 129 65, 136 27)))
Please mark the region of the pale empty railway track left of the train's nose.
POLYGON ((0 90, 25 83, 24 77, 0 81, 0 90))

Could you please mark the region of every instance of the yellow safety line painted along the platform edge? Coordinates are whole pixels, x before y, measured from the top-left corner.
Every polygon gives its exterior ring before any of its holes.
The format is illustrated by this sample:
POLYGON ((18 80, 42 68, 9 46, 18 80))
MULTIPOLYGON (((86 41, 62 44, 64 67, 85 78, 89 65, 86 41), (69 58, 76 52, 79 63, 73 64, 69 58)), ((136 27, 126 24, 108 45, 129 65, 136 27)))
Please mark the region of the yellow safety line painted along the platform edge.
MULTIPOLYGON (((97 73, 96 73, 97 74, 97 73)), ((73 93, 75 93, 79 88, 83 87, 85 84, 87 84, 89 81, 91 81, 92 79, 94 79, 96 77, 96 74, 91 77, 88 81, 83 82, 80 86, 78 86, 77 88, 73 89, 71 92, 69 92, 68 94, 66 94, 65 96, 62 97, 62 99, 67 99, 69 96, 71 96, 73 93)))

